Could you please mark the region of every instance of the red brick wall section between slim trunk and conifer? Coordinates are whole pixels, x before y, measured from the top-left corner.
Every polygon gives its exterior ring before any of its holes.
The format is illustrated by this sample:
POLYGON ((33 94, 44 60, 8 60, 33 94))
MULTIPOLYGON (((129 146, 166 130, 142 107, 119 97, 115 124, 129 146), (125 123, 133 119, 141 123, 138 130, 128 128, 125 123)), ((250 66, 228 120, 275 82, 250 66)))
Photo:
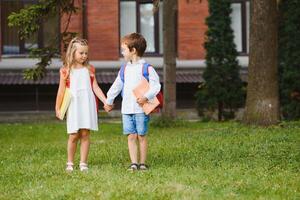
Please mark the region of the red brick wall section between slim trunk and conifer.
POLYGON ((178 1, 178 58, 204 59, 207 0, 178 1))

